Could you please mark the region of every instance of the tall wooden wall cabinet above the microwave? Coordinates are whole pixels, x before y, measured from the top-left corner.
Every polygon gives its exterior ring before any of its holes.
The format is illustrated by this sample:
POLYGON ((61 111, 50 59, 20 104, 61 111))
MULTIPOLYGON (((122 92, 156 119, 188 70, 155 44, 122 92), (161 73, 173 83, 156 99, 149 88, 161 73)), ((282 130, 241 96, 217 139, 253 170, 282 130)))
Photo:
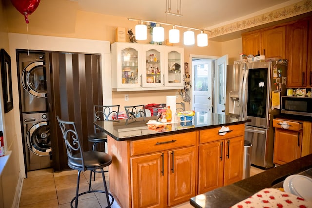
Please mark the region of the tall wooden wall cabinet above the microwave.
POLYGON ((286 26, 287 87, 289 88, 311 86, 311 68, 307 68, 308 24, 309 22, 304 20, 286 26))

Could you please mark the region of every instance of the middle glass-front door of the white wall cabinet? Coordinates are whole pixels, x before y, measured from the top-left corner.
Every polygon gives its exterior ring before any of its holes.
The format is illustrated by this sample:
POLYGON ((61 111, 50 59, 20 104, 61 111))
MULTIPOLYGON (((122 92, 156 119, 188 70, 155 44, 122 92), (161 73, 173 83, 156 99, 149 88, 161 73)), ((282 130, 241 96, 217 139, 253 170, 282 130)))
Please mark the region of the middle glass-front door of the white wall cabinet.
POLYGON ((143 87, 164 86, 164 47, 162 45, 143 45, 143 87))

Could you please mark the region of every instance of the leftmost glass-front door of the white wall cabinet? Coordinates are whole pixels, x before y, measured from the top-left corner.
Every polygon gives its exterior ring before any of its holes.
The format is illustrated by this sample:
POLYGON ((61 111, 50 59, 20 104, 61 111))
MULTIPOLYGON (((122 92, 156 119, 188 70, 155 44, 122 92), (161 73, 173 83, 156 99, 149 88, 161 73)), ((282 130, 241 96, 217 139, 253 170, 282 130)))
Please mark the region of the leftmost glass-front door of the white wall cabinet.
POLYGON ((134 43, 121 43, 121 44, 119 43, 117 44, 117 47, 116 45, 115 47, 113 45, 112 45, 112 88, 113 89, 140 88, 142 86, 141 83, 142 46, 134 43), (113 54, 117 55, 117 60, 114 60, 113 54))

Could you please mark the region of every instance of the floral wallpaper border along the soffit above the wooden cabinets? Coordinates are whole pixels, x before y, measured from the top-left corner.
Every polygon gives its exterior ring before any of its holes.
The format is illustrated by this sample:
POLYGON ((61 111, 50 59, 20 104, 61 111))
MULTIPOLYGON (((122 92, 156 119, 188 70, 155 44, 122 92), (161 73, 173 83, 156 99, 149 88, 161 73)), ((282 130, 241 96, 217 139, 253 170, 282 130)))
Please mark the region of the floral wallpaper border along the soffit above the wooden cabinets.
POLYGON ((304 0, 290 6, 267 12, 262 15, 255 16, 243 21, 237 21, 215 29, 210 29, 209 38, 233 33, 243 29, 248 29, 258 25, 270 23, 273 21, 283 20, 296 15, 304 14, 312 11, 312 0, 304 0))

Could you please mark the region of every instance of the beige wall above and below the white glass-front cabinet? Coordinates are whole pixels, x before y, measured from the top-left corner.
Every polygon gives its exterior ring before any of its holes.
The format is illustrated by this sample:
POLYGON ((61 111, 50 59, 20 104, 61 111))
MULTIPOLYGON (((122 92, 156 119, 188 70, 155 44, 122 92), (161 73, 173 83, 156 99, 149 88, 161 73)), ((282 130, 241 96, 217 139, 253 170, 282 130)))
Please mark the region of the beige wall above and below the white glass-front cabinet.
MULTIPOLYGON (((10 17, 9 32, 27 34, 27 25, 23 15, 20 14, 10 2, 7 3, 8 16, 10 17)), ((132 28, 134 30, 137 21, 129 21, 125 17, 103 15, 83 12, 78 10, 77 2, 67 0, 41 1, 37 10, 29 16, 28 33, 36 35, 61 36, 83 39, 106 40, 115 42, 116 27, 132 28), (61 5, 61 6, 60 6, 61 5)), ((165 39, 168 39, 169 26, 164 26, 165 39)), ((182 39, 181 33, 181 40, 182 39)), ((195 32, 196 35, 196 32, 195 32)), ((149 43, 151 36, 146 41, 149 43)), ((26 41, 26 40, 25 40, 26 41)), ((189 62, 190 54, 222 56, 221 42, 208 42, 208 47, 189 46, 185 48, 185 62, 189 62)), ((183 43, 176 44, 183 46, 183 43)), ((31 48, 31 45, 29 46, 31 48)), ((148 92, 113 92, 113 104, 124 105, 165 103, 167 95, 175 95, 177 90, 148 91, 148 92), (129 95, 129 101, 125 102, 124 94, 129 95), (139 95, 139 96, 138 96, 139 95), (140 97, 141 96, 141 97, 140 97), (142 97, 143 96, 143 97, 142 97)), ((104 98, 105 99, 105 98, 104 98)), ((177 100, 181 100, 178 98, 177 100)), ((186 105, 188 109, 188 104, 186 105)))

